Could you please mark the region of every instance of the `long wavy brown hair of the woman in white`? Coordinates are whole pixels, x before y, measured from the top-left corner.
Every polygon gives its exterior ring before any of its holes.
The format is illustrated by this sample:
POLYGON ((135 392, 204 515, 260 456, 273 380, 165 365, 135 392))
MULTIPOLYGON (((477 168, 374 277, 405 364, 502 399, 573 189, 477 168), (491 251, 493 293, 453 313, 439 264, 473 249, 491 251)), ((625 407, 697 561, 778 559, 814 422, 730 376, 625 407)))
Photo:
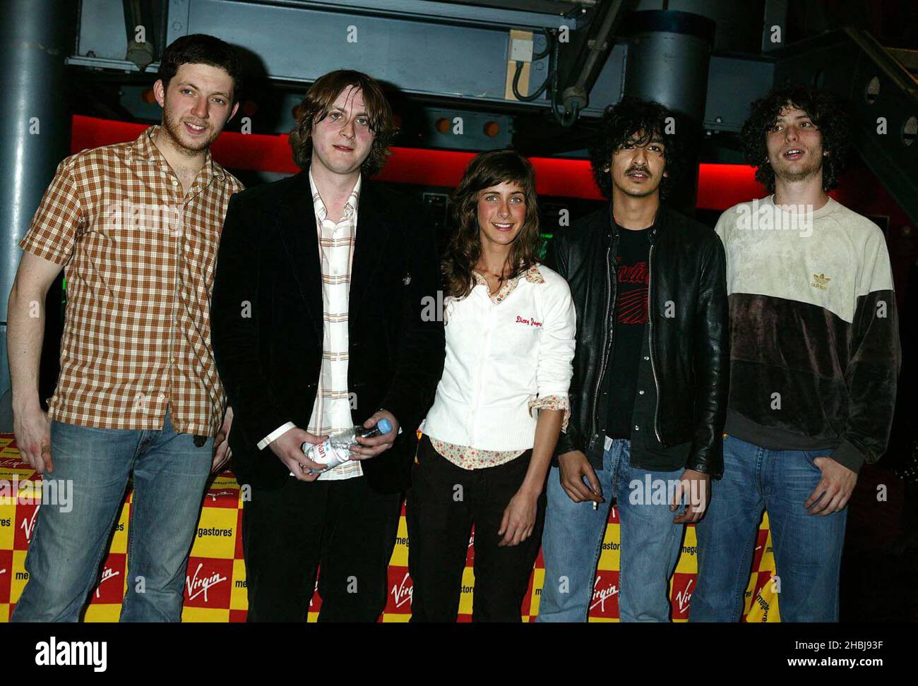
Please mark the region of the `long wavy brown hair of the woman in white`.
POLYGON ((481 228, 478 226, 478 193, 500 183, 518 183, 526 196, 526 217, 510 244, 508 279, 536 262, 539 246, 539 205, 532 164, 515 150, 491 150, 477 154, 468 163, 462 181, 451 198, 453 236, 442 261, 446 294, 465 297, 472 290, 472 271, 481 257, 481 228))

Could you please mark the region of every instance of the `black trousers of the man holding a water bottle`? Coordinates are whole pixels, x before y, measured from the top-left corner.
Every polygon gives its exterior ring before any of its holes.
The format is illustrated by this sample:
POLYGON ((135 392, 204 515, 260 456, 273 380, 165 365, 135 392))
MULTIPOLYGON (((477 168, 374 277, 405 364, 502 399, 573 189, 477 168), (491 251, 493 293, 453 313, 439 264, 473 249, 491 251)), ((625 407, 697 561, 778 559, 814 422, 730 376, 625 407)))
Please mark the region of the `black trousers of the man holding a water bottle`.
POLYGON ((242 505, 250 622, 305 622, 319 573, 319 622, 375 622, 386 607, 401 496, 365 477, 252 489, 242 505))

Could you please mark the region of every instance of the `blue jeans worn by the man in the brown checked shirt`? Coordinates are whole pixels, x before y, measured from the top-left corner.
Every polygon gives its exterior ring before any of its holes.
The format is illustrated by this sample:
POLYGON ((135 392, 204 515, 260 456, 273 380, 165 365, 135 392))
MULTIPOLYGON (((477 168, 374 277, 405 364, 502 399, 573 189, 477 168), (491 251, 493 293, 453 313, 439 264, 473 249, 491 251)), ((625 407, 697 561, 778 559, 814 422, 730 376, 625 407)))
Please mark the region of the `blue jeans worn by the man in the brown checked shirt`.
POLYGON ((197 448, 191 435, 176 434, 168 413, 161 430, 149 431, 51 422, 54 471, 45 479, 70 485, 71 502, 39 507, 26 555, 28 583, 10 620, 79 620, 133 472, 121 621, 181 621, 213 445, 213 437, 197 448))

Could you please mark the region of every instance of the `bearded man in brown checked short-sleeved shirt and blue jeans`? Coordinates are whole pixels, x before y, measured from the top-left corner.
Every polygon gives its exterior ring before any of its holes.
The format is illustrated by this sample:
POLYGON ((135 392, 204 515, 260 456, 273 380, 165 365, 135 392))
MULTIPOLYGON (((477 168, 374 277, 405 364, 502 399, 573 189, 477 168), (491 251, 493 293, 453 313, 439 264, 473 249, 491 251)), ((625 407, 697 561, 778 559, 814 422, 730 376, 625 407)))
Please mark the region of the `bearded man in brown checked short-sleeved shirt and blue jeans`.
POLYGON ((131 475, 121 621, 181 619, 207 475, 229 458, 209 309, 241 183, 209 147, 236 113, 240 76, 222 40, 175 40, 153 85, 162 124, 63 160, 20 243, 8 331, 17 445, 70 495, 39 509, 12 621, 79 619, 131 475), (61 375, 46 414, 39 307, 62 268, 61 375))

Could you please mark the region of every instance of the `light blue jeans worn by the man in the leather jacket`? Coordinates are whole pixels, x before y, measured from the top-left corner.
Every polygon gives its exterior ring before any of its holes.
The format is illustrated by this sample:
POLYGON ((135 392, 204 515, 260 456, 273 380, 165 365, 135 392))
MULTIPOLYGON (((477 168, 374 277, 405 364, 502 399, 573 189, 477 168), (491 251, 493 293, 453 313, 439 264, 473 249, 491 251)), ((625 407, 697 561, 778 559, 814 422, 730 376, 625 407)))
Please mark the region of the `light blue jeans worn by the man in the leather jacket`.
MULTIPOLYGON (((560 470, 548 477, 548 510, 542 537, 545 581, 536 622, 586 622, 599 551, 614 497, 621 531, 619 617, 622 622, 668 622, 669 578, 676 569, 684 526, 667 503, 642 503, 634 485, 678 479, 684 470, 648 471, 631 466, 631 441, 615 439, 596 472, 605 503, 575 503, 561 487, 560 470)), ((586 480, 585 480, 586 482, 586 480)))

